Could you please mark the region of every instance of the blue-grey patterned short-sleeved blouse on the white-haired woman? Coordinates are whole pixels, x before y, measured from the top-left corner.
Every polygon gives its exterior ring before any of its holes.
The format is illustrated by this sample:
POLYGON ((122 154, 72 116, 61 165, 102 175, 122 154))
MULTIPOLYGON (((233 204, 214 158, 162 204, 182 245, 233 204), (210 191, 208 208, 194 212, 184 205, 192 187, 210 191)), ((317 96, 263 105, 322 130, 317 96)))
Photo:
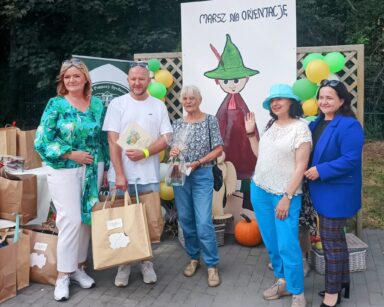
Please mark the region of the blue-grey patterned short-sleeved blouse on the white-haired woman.
MULTIPOLYGON (((196 123, 187 123, 183 118, 172 124, 174 146, 177 146, 186 162, 197 161, 207 155, 216 146, 223 145, 219 124, 213 115, 205 115, 205 119, 196 123)), ((212 166, 213 161, 203 166, 212 166)))

